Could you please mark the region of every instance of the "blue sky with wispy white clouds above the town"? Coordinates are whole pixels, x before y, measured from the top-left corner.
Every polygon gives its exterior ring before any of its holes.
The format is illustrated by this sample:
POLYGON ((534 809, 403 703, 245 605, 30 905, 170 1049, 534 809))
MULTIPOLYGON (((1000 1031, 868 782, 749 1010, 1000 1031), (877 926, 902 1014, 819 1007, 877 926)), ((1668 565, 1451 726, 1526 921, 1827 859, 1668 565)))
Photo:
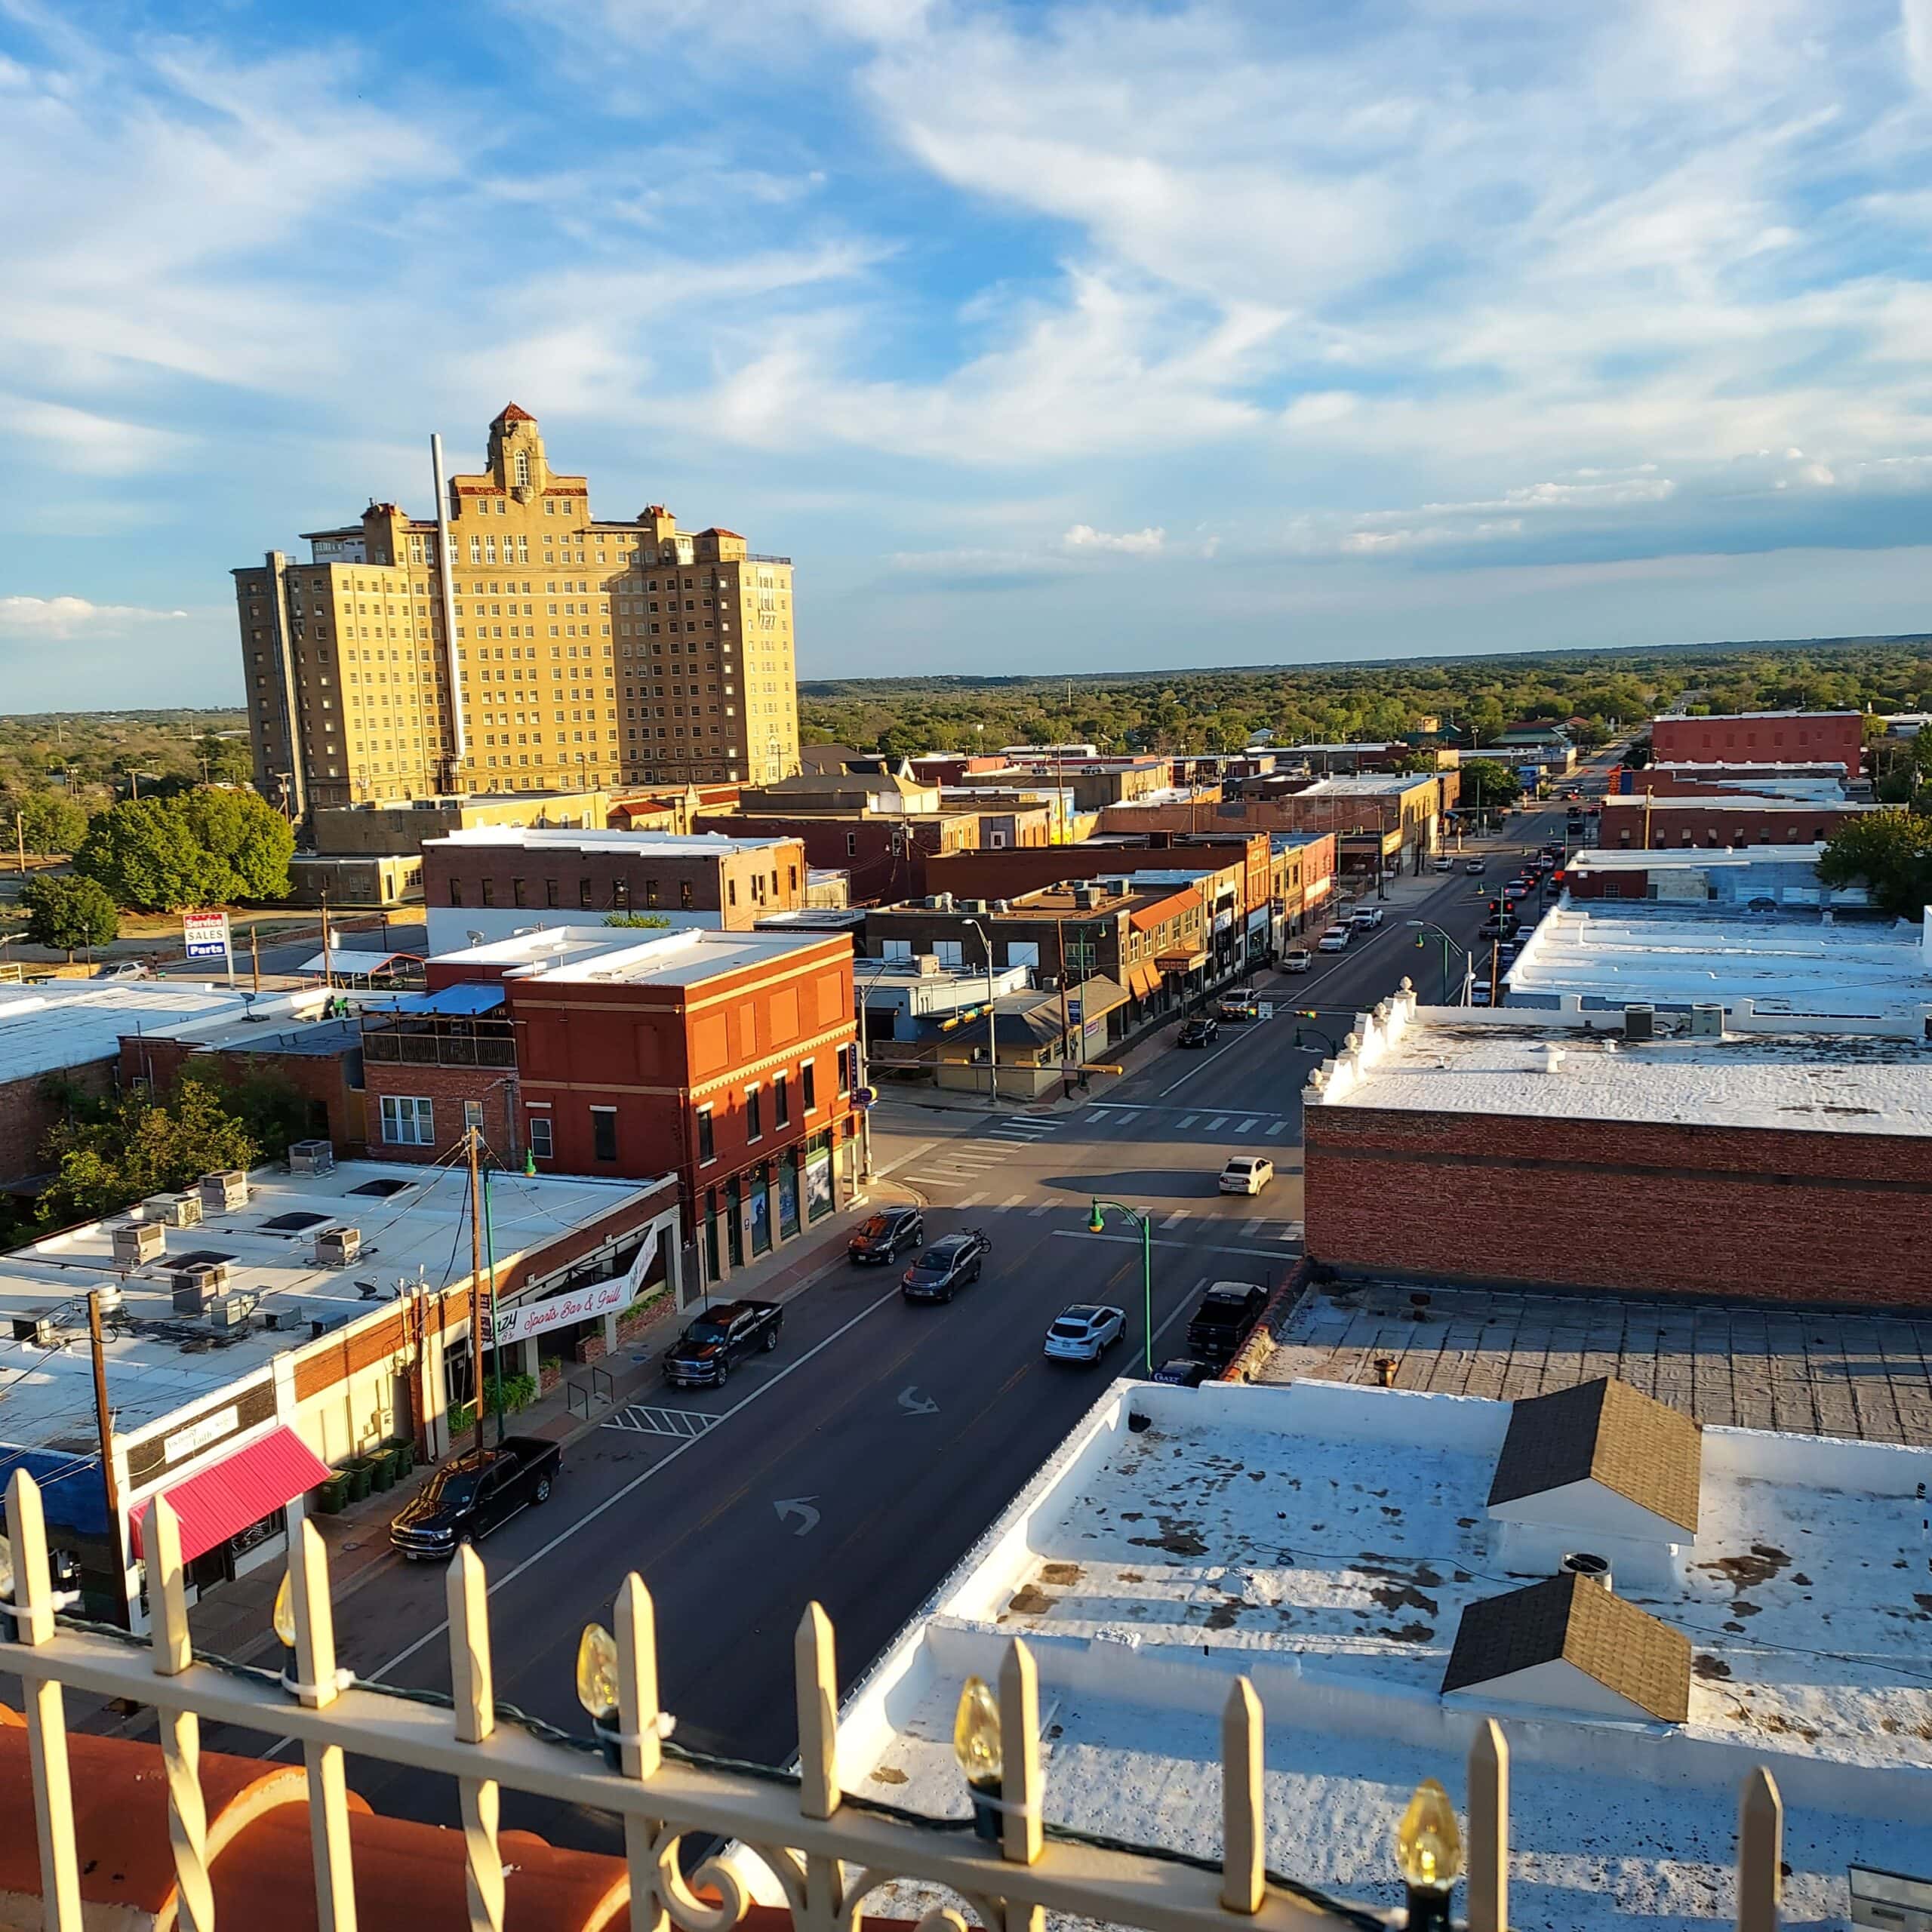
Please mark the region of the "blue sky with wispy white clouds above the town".
POLYGON ((806 676, 1899 632, 1932 0, 0 0, 0 709, 535 412, 806 676))

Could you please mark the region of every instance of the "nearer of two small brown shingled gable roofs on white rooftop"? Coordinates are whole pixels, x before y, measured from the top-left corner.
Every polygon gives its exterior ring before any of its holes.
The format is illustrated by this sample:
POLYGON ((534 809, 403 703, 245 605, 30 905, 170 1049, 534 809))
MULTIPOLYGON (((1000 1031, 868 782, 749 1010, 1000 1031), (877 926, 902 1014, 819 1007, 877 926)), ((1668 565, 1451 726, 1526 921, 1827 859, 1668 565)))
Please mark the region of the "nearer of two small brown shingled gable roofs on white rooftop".
POLYGON ((1586 1577, 1549 1577, 1470 1604, 1457 1625, 1443 1694, 1557 1662, 1662 1723, 1690 1718, 1690 1638, 1586 1577))

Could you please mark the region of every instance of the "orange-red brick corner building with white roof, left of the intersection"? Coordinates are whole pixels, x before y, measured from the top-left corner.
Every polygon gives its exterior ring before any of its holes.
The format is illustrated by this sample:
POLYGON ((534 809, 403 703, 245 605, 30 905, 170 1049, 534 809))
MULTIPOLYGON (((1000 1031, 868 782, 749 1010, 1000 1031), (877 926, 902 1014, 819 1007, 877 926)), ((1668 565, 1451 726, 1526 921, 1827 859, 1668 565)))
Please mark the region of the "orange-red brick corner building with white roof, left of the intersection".
POLYGON ((402 1065, 415 1094, 398 1099, 427 1101, 440 1132, 444 1082, 471 1105, 514 1094, 512 1142, 539 1173, 678 1175, 707 1281, 850 1198, 846 935, 564 927, 435 958, 429 981, 431 1003, 502 991, 514 1086, 489 1066, 402 1065))

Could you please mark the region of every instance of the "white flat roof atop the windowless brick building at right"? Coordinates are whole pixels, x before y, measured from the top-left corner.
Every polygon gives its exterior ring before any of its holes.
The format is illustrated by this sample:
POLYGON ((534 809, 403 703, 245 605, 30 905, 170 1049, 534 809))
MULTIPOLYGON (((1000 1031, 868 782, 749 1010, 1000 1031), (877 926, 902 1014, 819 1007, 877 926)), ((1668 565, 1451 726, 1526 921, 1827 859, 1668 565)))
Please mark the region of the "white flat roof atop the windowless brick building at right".
POLYGON ((1321 1105, 1557 1121, 1932 1134, 1932 1043, 1774 1032, 1629 1041, 1534 1010, 1428 1007, 1321 1105), (1549 1055, 1561 1053, 1555 1070, 1549 1055))

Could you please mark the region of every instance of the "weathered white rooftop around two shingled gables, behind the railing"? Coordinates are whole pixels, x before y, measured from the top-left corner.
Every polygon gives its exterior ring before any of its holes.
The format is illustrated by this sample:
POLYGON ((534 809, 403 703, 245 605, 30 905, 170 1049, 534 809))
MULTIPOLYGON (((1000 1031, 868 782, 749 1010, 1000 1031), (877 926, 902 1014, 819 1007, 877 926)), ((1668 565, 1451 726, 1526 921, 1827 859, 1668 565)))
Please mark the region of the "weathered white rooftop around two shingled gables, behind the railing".
MULTIPOLYGON (((952 1712, 1024 1634, 1055 1824, 1213 1855, 1219 1714, 1267 1719, 1265 1862, 1399 1905, 1422 1777, 1464 1799, 1480 1689, 1439 1694, 1461 1609, 1519 1588, 1486 1528, 1503 1403, 1302 1381, 1115 1383, 852 1692, 840 1781, 962 1816, 952 1712), (1132 1416, 1144 1430, 1128 1428, 1132 1416)), ((1706 1430, 1677 1580, 1683 1727, 1497 1706, 1513 1750, 1511 1924, 1729 1918, 1737 1785, 1785 1795, 1789 1924, 1845 1926, 1849 1862, 1932 1872, 1932 1671, 1917 1482, 1932 1453, 1706 1430)), ((914 1886, 871 1903, 933 1903, 914 1886)))

